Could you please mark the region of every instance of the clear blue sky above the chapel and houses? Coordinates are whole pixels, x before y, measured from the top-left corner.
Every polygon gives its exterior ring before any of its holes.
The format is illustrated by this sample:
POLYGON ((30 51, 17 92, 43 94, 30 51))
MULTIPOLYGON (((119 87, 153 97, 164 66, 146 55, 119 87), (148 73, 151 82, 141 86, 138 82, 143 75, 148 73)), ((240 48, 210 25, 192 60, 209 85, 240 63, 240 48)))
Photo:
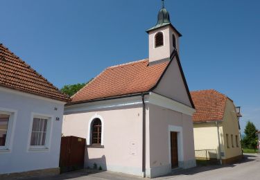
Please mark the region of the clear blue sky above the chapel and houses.
MULTIPOLYGON (((159 0, 0 0, 0 42, 57 87, 148 57, 159 0)), ((166 0, 190 90, 216 89, 260 129, 260 1, 166 0)))

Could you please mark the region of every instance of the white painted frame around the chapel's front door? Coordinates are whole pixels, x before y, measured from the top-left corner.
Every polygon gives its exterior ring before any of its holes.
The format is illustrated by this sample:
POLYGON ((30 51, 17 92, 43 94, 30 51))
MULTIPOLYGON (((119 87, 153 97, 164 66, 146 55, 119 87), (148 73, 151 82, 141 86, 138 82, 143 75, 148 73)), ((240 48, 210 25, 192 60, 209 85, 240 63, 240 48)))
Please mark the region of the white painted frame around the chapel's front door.
POLYGON ((168 125, 168 150, 169 163, 171 164, 171 132, 177 132, 178 161, 184 161, 182 127, 168 125))

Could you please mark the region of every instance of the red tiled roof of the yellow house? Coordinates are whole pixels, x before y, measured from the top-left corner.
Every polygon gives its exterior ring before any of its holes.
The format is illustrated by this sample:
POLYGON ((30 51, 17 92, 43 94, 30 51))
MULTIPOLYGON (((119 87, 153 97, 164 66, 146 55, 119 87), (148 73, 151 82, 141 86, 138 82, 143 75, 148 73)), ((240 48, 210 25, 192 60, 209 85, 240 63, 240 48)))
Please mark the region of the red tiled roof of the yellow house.
POLYGON ((223 120, 227 96, 214 89, 191 91, 196 113, 193 122, 223 120))

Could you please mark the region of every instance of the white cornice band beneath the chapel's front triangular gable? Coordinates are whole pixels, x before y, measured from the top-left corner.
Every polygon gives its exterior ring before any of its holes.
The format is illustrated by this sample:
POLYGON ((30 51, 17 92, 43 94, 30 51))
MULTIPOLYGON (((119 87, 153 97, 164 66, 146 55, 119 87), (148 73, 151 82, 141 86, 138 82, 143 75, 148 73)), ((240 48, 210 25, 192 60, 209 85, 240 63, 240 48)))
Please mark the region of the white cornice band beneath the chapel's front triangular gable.
POLYGON ((150 95, 150 96, 148 96, 149 104, 171 109, 173 111, 177 111, 182 114, 187 114, 189 116, 192 116, 193 113, 195 112, 195 109, 193 109, 192 107, 184 105, 171 98, 166 98, 165 96, 162 96, 162 95, 159 95, 159 94, 153 93, 153 92, 150 92, 149 95, 150 95))

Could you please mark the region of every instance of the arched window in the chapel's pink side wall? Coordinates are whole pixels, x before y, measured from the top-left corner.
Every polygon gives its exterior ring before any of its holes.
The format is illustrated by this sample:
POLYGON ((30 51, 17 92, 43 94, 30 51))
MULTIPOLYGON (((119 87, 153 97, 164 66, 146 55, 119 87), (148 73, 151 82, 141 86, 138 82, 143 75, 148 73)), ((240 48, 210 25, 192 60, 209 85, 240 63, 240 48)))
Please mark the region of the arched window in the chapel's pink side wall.
POLYGON ((92 145, 101 145, 102 123, 99 118, 92 121, 92 145))

